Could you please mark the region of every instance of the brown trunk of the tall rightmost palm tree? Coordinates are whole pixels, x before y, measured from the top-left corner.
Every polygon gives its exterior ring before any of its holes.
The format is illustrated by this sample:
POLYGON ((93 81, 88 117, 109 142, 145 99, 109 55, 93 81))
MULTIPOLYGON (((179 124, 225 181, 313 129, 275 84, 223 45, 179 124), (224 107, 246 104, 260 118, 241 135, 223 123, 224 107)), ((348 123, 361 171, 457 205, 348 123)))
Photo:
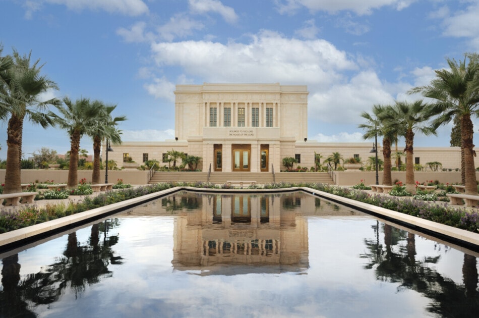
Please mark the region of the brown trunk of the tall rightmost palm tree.
POLYGON ((477 194, 477 183, 474 167, 474 144, 472 136, 474 130, 472 128, 470 115, 462 115, 461 117, 461 138, 464 146, 464 170, 465 170, 465 193, 477 194))

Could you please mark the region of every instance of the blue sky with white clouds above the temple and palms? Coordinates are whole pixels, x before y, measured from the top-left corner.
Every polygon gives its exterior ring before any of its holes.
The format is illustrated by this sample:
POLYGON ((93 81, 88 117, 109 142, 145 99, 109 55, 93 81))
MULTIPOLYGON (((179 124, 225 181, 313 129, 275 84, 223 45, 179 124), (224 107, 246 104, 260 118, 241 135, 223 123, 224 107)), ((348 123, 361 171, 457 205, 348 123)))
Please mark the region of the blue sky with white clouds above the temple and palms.
MULTIPOLYGON (((117 104, 124 141, 174 138, 176 84, 308 85, 308 139, 359 142, 361 112, 415 100, 446 58, 479 51, 479 0, 0 0, 4 55, 32 50, 58 91, 117 104)), ((474 121, 477 127, 477 120, 474 121)), ((0 127, 0 159, 7 124, 0 127)), ((416 134, 415 146, 449 146, 416 134)), ((475 129, 477 130, 477 129, 475 129)), ((475 136, 477 139, 477 136, 475 136)), ((23 152, 65 153, 25 124, 23 152)), ((90 151, 92 141, 81 147, 90 151)))

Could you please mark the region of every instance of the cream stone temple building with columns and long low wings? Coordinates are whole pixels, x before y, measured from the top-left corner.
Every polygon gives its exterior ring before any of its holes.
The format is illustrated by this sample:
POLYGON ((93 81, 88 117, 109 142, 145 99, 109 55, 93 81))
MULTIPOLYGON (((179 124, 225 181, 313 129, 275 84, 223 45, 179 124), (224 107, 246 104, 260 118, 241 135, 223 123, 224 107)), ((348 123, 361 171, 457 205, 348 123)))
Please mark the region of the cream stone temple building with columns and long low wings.
MULTIPOLYGON (((198 168, 215 172, 279 172, 284 169, 284 157, 296 158, 296 166, 311 168, 315 153, 321 154, 322 160, 339 152, 344 159, 361 157, 364 162, 372 155, 370 142, 308 140, 309 92, 305 85, 204 83, 176 85, 174 94, 174 140, 114 145, 109 160, 118 168, 130 158, 139 164, 155 159, 168 165, 166 153, 171 150, 199 156, 198 168)), ((382 160, 381 140, 378 142, 382 160)), ((402 149, 400 145, 399 151, 402 149)), ((414 164, 438 161, 443 168, 460 168, 460 148, 414 148, 414 164)))

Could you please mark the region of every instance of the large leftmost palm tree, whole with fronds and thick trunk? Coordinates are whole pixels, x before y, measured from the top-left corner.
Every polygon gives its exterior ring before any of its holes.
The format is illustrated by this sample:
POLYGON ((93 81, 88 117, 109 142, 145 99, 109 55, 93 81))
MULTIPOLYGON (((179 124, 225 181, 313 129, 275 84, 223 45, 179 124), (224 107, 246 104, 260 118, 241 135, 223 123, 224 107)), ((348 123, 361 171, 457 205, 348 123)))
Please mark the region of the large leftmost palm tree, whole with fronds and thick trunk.
POLYGON ((4 193, 22 191, 21 160, 23 123, 25 119, 33 124, 47 128, 52 126, 51 118, 45 113, 48 105, 58 105, 57 98, 41 101, 40 95, 51 89, 58 89, 56 84, 46 76, 41 76, 43 65, 40 60, 31 64, 29 55, 20 56, 13 50, 13 58, 2 58, 3 69, 0 75, 0 104, 2 112, 0 118, 7 120, 7 167, 5 174, 4 193), (14 65, 12 66, 12 62, 14 65))

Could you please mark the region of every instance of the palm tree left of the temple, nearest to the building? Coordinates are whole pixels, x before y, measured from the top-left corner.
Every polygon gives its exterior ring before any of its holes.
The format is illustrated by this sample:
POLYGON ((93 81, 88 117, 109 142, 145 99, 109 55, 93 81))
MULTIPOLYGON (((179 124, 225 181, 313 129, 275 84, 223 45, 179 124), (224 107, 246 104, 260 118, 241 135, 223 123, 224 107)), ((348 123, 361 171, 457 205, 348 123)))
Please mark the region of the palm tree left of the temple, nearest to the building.
POLYGON ((88 132, 88 135, 93 139, 93 172, 91 177, 92 184, 100 183, 100 151, 101 142, 106 139, 113 144, 122 142, 121 131, 115 129, 115 126, 120 121, 127 120, 126 116, 111 117, 111 112, 116 108, 116 105, 105 105, 99 100, 95 100, 93 104, 100 108, 100 112, 93 121, 93 129, 88 132))

